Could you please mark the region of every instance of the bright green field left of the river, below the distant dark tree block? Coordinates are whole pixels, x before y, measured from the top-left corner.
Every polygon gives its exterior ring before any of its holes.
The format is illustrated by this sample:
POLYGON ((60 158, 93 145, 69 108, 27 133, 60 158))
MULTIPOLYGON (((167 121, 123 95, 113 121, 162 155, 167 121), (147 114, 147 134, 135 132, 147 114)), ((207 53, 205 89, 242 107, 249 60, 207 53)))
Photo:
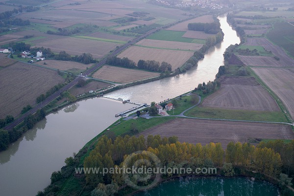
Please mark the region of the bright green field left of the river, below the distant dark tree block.
MULTIPOLYGON (((161 30, 152 35, 148 36, 147 39, 150 40, 164 40, 164 41, 174 41, 174 42, 186 42, 186 43, 193 43, 195 39, 193 38, 182 38, 185 34, 185 31, 168 31, 168 30, 161 30)), ((205 40, 204 40, 205 42, 205 40)))

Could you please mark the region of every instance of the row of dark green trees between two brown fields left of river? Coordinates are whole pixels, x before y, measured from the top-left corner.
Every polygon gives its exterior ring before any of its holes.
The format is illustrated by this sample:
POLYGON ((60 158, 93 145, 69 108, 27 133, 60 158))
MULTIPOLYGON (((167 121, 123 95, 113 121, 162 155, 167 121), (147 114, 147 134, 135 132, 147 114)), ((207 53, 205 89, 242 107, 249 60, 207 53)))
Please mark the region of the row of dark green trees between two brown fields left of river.
POLYGON ((106 60, 106 64, 108 65, 115 65, 115 66, 122 66, 126 68, 138 68, 138 69, 146 69, 149 71, 156 71, 156 72, 166 72, 172 71, 172 65, 167 62, 162 62, 161 64, 157 61, 144 61, 139 60, 138 66, 136 66, 136 63, 126 57, 123 57, 122 59, 116 56, 108 57, 106 60))

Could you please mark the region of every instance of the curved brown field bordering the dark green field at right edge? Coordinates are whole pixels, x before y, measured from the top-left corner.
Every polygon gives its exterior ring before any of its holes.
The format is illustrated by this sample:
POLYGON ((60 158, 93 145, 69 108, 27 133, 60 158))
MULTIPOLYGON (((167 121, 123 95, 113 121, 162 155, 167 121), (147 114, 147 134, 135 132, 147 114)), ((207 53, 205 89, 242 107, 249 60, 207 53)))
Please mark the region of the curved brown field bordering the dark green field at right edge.
POLYGON ((245 45, 264 46, 268 51, 271 51, 272 54, 280 58, 278 64, 282 66, 294 66, 294 59, 289 57, 281 47, 271 44, 270 41, 265 38, 248 38, 245 45))

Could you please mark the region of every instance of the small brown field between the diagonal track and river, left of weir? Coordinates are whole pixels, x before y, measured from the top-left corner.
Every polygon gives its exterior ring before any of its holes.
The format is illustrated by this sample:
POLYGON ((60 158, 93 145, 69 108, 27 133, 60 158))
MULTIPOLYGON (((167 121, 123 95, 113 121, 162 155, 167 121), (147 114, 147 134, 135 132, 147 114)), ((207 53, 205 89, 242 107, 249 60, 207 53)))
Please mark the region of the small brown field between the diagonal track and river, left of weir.
POLYGON ((84 87, 73 86, 70 89, 70 92, 71 92, 71 94, 76 96, 76 95, 80 95, 80 94, 83 94, 83 93, 88 93, 90 90, 97 90, 97 89, 104 88, 104 87, 109 87, 109 86, 110 85, 107 84, 107 83, 103 83, 103 82, 93 80, 92 82, 88 83, 84 87))

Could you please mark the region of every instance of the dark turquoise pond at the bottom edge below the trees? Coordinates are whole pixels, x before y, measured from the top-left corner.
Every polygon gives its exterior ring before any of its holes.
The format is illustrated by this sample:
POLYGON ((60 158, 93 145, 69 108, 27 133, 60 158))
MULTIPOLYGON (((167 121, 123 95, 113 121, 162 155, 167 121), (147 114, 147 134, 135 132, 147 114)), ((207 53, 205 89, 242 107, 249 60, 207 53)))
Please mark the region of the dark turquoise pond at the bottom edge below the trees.
POLYGON ((277 186, 247 177, 185 177, 135 196, 278 196, 277 186))

